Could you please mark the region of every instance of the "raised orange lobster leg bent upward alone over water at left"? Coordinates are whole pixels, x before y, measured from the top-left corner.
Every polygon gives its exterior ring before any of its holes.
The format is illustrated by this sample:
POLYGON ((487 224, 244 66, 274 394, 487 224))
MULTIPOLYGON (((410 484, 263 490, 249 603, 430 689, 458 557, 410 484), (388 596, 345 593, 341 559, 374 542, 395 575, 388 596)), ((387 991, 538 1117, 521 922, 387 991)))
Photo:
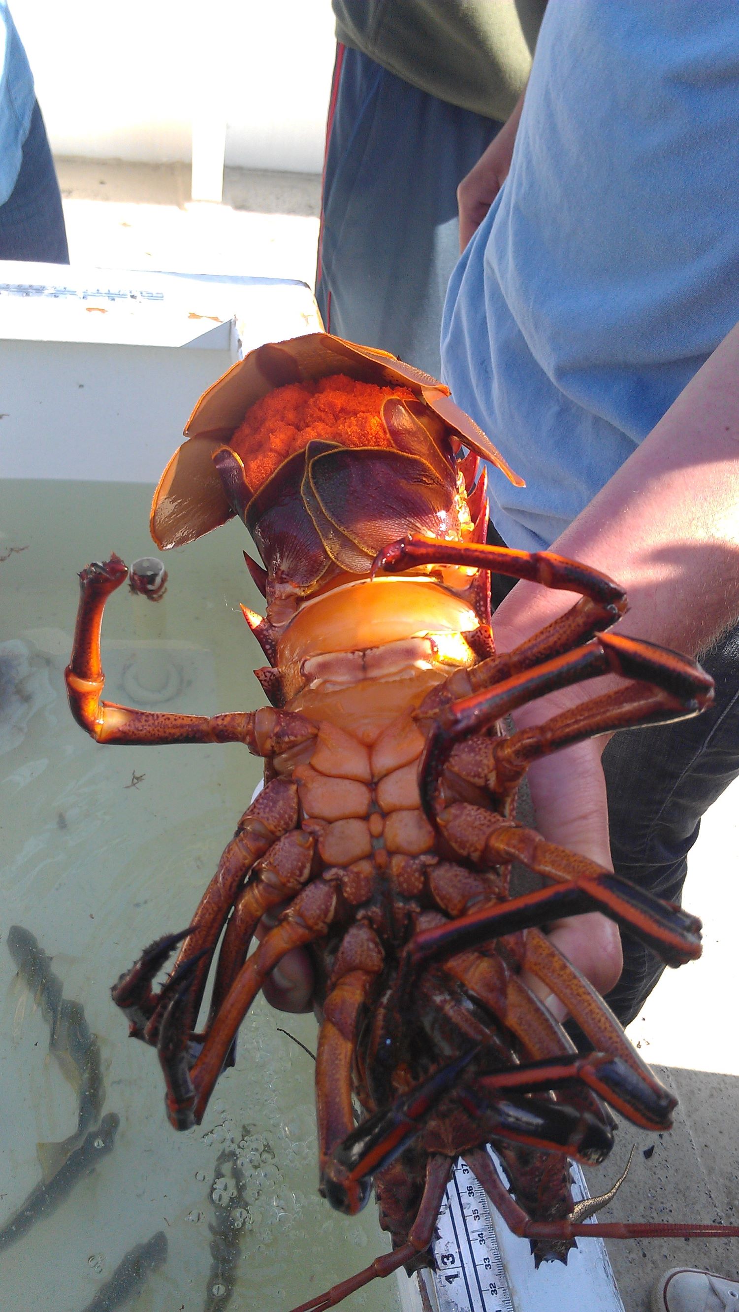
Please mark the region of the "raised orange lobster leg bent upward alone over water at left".
POLYGON ((93 562, 80 573, 75 642, 64 678, 72 715, 97 743, 244 743, 254 756, 273 756, 316 736, 314 726, 303 715, 270 707, 225 715, 180 715, 101 702, 105 684, 100 653, 102 613, 110 594, 126 579, 126 565, 117 555, 105 564, 93 562))

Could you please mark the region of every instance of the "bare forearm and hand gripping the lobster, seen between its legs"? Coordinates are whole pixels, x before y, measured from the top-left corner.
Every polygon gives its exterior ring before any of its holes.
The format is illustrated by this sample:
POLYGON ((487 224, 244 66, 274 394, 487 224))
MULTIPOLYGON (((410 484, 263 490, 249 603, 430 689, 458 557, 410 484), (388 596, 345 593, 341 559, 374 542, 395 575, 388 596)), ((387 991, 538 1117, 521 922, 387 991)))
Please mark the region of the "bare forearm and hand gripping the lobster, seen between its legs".
MULTIPOLYGON (((620 628, 696 655, 739 615, 739 327, 713 353, 639 449, 553 543, 561 555, 622 584, 632 609, 620 628)), ((574 602, 516 584, 495 611, 502 649, 574 602)), ((620 680, 561 689, 520 707, 518 728, 541 723, 620 680)), ((607 736, 579 743, 529 770, 536 824, 552 841, 609 865, 607 736)), ((553 939, 591 979, 611 988, 618 934, 599 914, 553 928, 553 939)))

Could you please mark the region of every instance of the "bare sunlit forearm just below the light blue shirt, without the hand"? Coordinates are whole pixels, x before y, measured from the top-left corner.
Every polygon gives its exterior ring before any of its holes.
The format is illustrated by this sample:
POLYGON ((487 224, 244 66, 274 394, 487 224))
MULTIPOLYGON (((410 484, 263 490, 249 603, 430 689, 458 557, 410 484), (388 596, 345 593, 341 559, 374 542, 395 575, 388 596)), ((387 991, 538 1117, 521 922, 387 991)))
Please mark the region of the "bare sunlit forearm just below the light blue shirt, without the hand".
MULTIPOLYGON (((624 632, 696 655, 736 619, 739 325, 552 550, 628 589, 624 632)), ((498 626, 523 636, 573 600, 519 584, 498 626)))

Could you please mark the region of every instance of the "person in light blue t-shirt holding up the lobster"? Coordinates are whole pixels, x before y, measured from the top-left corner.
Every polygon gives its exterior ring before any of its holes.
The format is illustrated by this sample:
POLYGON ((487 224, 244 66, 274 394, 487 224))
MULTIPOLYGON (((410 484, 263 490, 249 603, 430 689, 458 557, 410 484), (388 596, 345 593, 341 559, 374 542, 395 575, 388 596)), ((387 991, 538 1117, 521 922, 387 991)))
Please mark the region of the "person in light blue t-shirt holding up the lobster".
MULTIPOLYGON (((622 584, 618 631, 700 655, 714 706, 582 744, 531 771, 537 827, 679 901, 708 806, 739 774, 739 13, 732 0, 554 0, 510 173, 495 144, 460 189, 469 240, 444 312, 443 373, 525 479, 490 470, 510 547, 622 584), (494 194, 486 216, 480 214, 494 194), (477 226, 477 231, 474 231, 477 226), (605 770, 607 791, 600 768, 605 770)), ((515 646, 571 598, 518 584, 515 646)), ((612 681, 617 686, 617 681, 612 681)), ((608 685, 521 708, 536 723, 608 685)), ((622 1023, 660 974, 600 917, 553 937, 622 1023)))

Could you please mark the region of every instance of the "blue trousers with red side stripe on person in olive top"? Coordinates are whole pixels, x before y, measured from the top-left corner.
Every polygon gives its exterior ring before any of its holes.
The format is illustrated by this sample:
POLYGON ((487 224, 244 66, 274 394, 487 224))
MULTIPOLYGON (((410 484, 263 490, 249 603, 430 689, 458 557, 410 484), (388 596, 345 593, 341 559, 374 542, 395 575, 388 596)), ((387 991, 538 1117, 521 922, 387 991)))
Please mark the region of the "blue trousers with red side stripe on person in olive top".
POLYGON ((499 127, 338 46, 316 273, 329 332, 439 377, 457 186, 499 127))

